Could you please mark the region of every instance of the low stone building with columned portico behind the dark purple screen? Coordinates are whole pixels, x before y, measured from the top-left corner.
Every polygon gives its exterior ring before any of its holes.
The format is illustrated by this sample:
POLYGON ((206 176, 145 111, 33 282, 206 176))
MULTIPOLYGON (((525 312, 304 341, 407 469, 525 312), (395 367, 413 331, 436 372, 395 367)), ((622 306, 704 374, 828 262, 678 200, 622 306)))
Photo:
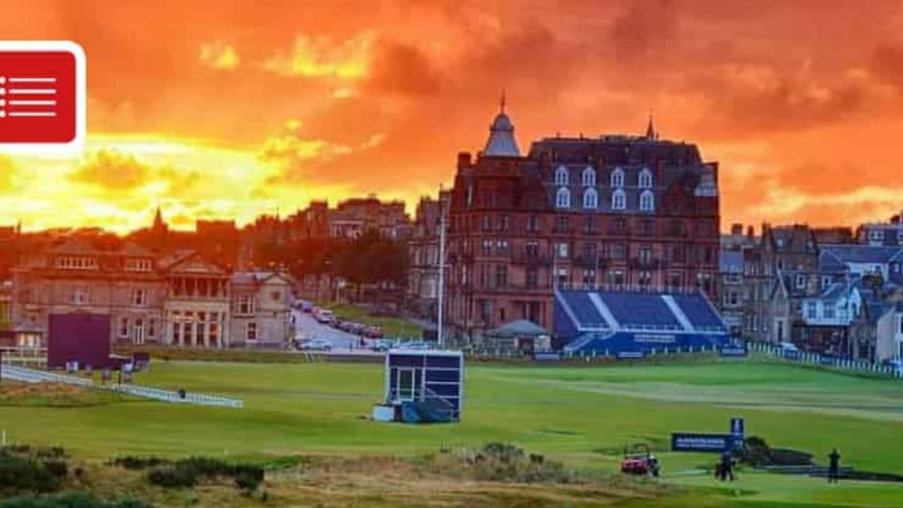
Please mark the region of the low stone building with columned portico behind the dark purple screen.
POLYGON ((109 315, 111 343, 281 346, 291 336, 292 281, 231 272, 195 251, 158 256, 135 243, 57 240, 13 269, 15 345, 46 345, 50 315, 109 315))

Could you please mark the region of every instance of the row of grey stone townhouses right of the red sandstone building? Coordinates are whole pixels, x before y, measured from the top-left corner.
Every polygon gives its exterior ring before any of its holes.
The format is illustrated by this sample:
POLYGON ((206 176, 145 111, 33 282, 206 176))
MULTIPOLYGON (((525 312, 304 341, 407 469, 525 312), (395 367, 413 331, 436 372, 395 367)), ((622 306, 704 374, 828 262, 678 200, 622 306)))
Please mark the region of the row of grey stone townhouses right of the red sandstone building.
MULTIPOLYGON (((737 231, 733 231, 736 233, 737 231)), ((820 243, 806 225, 722 239, 734 334, 875 362, 903 357, 903 247, 820 243)))

